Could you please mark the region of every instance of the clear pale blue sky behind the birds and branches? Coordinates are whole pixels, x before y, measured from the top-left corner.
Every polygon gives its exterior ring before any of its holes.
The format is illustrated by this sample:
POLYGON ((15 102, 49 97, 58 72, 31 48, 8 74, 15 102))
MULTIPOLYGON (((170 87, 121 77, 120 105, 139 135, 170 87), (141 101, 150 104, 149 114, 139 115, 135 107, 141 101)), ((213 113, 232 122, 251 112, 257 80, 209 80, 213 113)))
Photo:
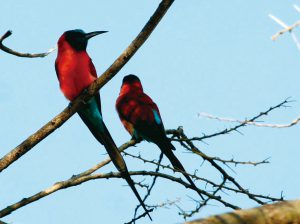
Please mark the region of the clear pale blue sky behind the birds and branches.
MULTIPOLYGON (((22 52, 43 52, 55 46, 66 30, 108 30, 90 41, 88 52, 101 74, 147 22, 160 1, 9 1, 3 0, 0 33, 13 35, 5 44, 22 52)), ((287 97, 296 102, 266 118, 288 123, 299 115, 300 52, 290 36, 277 42, 270 37, 281 27, 268 17, 273 13, 287 23, 300 18, 292 5, 299 1, 200 1, 177 0, 157 29, 130 62, 102 90, 104 119, 118 145, 130 136, 114 108, 124 75, 140 77, 144 90, 160 107, 166 128, 182 125, 189 136, 200 136, 231 124, 198 118, 197 113, 243 119, 276 105, 287 97)), ((24 59, 0 52, 0 156, 34 133, 67 104, 54 70, 56 52, 43 59, 24 59)), ((270 164, 238 167, 232 174, 255 193, 299 198, 299 131, 246 127, 244 135, 232 133, 197 145, 208 155, 237 160, 263 160, 270 164)), ((176 155, 187 170, 199 168, 205 177, 213 169, 175 144, 176 155)), ((157 158, 158 148, 142 143, 130 150, 157 158)), ((0 208, 30 196, 54 182, 69 178, 106 158, 103 146, 77 115, 38 144, 0 175, 0 208)), ((130 170, 148 169, 126 157, 130 170)), ((168 163, 165 160, 166 163, 168 163)), ((110 165, 104 171, 115 171, 110 165)), ((102 171, 102 172, 104 172, 102 171)), ((142 178, 139 178, 140 180, 142 178)), ((96 180, 57 192, 19 209, 4 221, 14 224, 122 223, 132 218, 137 204, 123 180, 96 180)), ((141 189, 139 189, 142 192, 141 189)), ((184 208, 193 203, 193 192, 168 181, 159 181, 150 203, 182 198, 184 208)), ((246 197, 226 198, 242 207, 256 206, 246 197)), ((197 217, 230 211, 218 203, 197 217), (215 206, 216 205, 216 206, 215 206)), ((160 209, 153 223, 178 223, 178 210, 160 209)), ((139 223, 149 223, 143 219, 139 223)))

